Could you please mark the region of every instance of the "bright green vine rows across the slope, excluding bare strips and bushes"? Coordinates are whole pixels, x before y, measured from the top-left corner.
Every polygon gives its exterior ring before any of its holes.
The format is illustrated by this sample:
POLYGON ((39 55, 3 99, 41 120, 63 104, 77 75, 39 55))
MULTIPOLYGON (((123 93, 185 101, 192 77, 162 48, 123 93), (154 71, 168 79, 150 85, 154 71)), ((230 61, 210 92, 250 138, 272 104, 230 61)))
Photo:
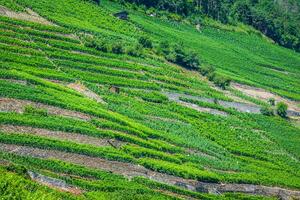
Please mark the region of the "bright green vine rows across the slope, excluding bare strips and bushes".
MULTIPOLYGON (((80 38, 69 36, 89 33, 130 44, 135 44, 140 35, 150 36, 155 45, 162 40, 182 41, 199 53, 204 64, 216 66, 217 73, 292 99, 300 99, 299 54, 271 44, 257 34, 212 27, 205 27, 199 33, 189 25, 172 24, 137 11, 130 11, 131 21, 121 21, 111 15, 111 10, 115 12, 120 7, 107 1, 102 1, 100 7, 81 0, 0 1, 0 5, 13 9, 14 2, 30 7, 59 26, 0 17, 0 97, 84 113, 91 120, 38 113, 0 113, 0 124, 117 139, 126 144, 120 149, 95 147, 5 131, 0 133, 1 143, 139 164, 157 172, 200 181, 300 188, 300 129, 289 121, 182 99, 229 113, 227 117, 214 116, 171 102, 164 92, 231 99, 211 88, 197 72, 170 65, 157 55, 137 58, 99 52, 84 46, 80 38), (102 97, 106 104, 67 87, 68 83, 78 82, 102 97), (111 86, 120 87, 120 93, 112 93, 111 86)), ((240 93, 237 96, 264 105, 240 93)), ((88 191, 78 198, 174 199, 178 195, 203 199, 252 198, 237 194, 215 197, 148 179, 128 181, 56 160, 4 152, 0 152, 0 158, 43 173, 48 171, 51 176, 88 191), (60 176, 60 173, 70 176, 60 176), (154 195, 157 191, 167 191, 168 195, 154 195)))

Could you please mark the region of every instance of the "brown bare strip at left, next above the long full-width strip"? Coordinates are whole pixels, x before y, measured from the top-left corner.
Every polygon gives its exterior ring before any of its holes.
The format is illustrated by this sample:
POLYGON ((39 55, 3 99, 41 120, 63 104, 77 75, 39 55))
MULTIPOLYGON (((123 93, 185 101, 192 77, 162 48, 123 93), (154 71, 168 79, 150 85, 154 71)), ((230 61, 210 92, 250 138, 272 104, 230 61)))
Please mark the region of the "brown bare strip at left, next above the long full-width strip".
POLYGON ((76 142, 79 144, 87 144, 93 146, 113 146, 115 148, 120 148, 124 142, 114 140, 114 139, 102 139, 97 137, 91 137, 87 135, 81 135, 77 133, 67 133, 62 131, 51 131, 41 128, 32 128, 27 126, 12 126, 12 125, 0 125, 0 131, 5 133, 23 133, 32 134, 47 138, 53 138, 57 140, 65 140, 70 142, 76 142))

